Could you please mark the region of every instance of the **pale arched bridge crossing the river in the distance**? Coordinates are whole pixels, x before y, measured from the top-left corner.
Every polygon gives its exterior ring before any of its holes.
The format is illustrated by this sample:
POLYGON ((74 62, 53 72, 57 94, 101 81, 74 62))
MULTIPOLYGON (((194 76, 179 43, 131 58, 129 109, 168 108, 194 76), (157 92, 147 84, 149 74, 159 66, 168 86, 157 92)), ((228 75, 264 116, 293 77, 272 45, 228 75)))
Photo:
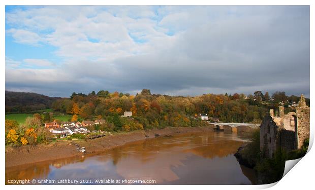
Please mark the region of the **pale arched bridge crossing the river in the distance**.
POLYGON ((210 123, 214 130, 224 130, 227 132, 250 132, 259 129, 260 124, 250 123, 210 123))

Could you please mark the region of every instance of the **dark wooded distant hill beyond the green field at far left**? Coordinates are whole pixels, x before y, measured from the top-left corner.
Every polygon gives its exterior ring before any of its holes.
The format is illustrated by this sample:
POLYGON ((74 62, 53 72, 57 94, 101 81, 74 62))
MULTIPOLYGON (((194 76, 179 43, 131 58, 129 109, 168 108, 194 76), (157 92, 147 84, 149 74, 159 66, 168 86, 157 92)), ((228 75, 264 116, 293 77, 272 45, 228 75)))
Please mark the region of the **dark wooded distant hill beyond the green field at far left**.
POLYGON ((58 97, 49 97, 31 92, 6 91, 6 113, 27 113, 51 108, 51 103, 58 97))

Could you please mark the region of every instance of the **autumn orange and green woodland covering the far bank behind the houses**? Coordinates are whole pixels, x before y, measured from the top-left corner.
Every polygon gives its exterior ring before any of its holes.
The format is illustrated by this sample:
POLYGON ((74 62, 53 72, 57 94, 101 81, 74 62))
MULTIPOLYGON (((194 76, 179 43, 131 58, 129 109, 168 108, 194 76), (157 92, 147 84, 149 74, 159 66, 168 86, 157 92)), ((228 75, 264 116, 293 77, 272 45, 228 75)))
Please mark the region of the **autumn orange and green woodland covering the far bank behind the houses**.
POLYGON ((133 96, 102 90, 89 94, 73 93, 70 98, 53 102, 52 108, 54 111, 75 115, 79 120, 105 118, 116 127, 123 127, 120 115, 124 111, 132 111, 135 122, 144 129, 197 126, 201 124, 198 120, 200 113, 207 113, 208 117, 219 118, 222 122, 260 123, 268 109, 277 105, 264 104, 262 99, 257 98, 258 94, 256 92, 249 97, 243 94, 183 97, 151 94, 150 90, 144 89, 133 96), (113 118, 119 119, 114 121, 113 118))

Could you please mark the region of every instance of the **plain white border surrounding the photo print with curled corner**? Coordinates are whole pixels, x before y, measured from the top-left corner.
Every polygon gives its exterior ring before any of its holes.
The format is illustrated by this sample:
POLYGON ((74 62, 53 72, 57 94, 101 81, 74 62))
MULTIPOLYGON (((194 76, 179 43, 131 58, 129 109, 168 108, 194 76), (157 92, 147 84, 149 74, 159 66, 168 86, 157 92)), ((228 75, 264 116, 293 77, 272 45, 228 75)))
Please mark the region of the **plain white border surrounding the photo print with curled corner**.
MULTIPOLYGON (((98 1, 98 0, 77 0, 77 1, 65 1, 65 0, 50 0, 50 1, 40 1, 40 0, 28 0, 28 1, 20 1, 20 0, 4 0, 0 2, 0 19, 1 19, 1 35, 0 35, 0 42, 1 42, 1 49, 0 49, 0 57, 1 57, 1 80, 2 80, 2 85, 1 85, 1 101, 2 101, 2 109, 1 109, 1 124, 0 125, 4 129, 4 124, 5 124, 5 5, 310 5, 310 34, 314 33, 314 24, 312 21, 314 21, 314 11, 315 9, 313 8, 314 6, 314 1, 293 1, 293 0, 288 0, 288 1, 279 1, 279 0, 265 0, 265 1, 201 1, 201 0, 194 0, 194 1, 180 1, 180 2, 175 2, 175 1, 166 1, 166 0, 152 0, 152 1, 139 1, 139 0, 134 0, 134 1, 98 1)), ((314 45, 314 39, 312 35, 310 36, 310 52, 313 52, 313 45, 314 45)), ((310 63, 313 62, 313 54, 310 54, 310 63)), ((297 63, 298 64, 298 63, 297 63)), ((312 64, 310 64, 310 70, 313 70, 312 64)), ((314 77, 310 74, 310 84, 313 84, 314 77)), ((310 99, 313 100, 313 89, 310 88, 310 99)), ((313 101, 311 101, 311 106, 314 107, 313 101)), ((310 144, 313 143, 313 135, 314 135, 314 128, 313 128, 313 118, 314 114, 311 111, 311 118, 310 118, 310 126, 311 127, 311 139, 310 139, 310 144)), ((2 134, 1 135, 2 142, 5 141, 5 137, 2 134)), ((1 184, 5 184, 5 145, 4 143, 1 143, 1 163, 2 163, 2 169, 3 171, 1 172, 0 180, 1 184)), ((297 163, 297 165, 285 176, 283 177, 275 186, 274 184, 269 184, 269 185, 143 185, 143 186, 136 186, 136 185, 121 185, 121 186, 116 186, 116 185, 111 185, 111 186, 104 186, 104 185, 95 185, 92 186, 92 188, 97 188, 97 189, 104 189, 104 188, 129 188, 129 189, 159 189, 160 188, 201 188, 201 189, 209 189, 209 188, 215 188, 215 189, 260 189, 260 188, 267 188, 270 186, 273 186, 274 189, 306 189, 311 186, 313 186, 312 181, 313 179, 313 169, 314 169, 314 150, 310 150, 309 153, 302 159, 301 162, 297 163)), ((55 189, 59 188, 59 186, 55 185, 46 185, 45 187, 40 186, 40 185, 27 185, 27 186, 14 186, 14 185, 7 185, 5 186, 6 188, 32 188, 32 189, 42 189, 42 188, 48 188, 48 189, 55 189)), ((60 186, 61 187, 61 186, 60 186)), ((72 186, 62 186, 61 188, 72 188, 72 186)), ((86 185, 80 185, 80 186, 75 186, 74 188, 76 189, 86 189, 89 188, 89 186, 86 185)))

